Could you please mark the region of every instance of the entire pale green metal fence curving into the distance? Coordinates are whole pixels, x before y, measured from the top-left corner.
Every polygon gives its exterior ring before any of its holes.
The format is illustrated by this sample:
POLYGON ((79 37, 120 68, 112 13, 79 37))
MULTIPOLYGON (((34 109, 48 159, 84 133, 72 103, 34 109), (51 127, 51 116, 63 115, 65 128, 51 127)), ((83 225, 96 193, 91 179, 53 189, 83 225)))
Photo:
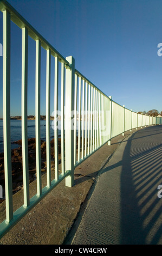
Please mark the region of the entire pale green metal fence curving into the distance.
POLYGON ((73 57, 64 58, 51 46, 17 11, 6 1, 0 2, 3 12, 3 131, 6 220, 0 224, 0 237, 8 232, 63 179, 66 186, 74 185, 74 169, 103 144, 111 145, 111 139, 127 130, 162 124, 162 118, 148 117, 120 106, 106 96, 85 76, 75 69, 73 57), (22 160, 23 160, 23 205, 13 212, 12 165, 10 135, 10 23, 22 29, 22 160), (27 137, 28 108, 28 38, 36 44, 35 61, 35 125, 36 125, 36 174, 37 193, 29 197, 29 166, 27 137), (40 133, 40 79, 41 49, 47 54, 46 63, 46 160, 47 185, 42 188, 41 133, 40 133), (50 154, 50 74, 51 57, 54 70, 54 137, 55 178, 51 180, 50 154), (59 70, 61 63, 61 71, 59 70), (60 73, 59 73, 60 72, 60 73), (57 110, 61 77, 61 172, 59 172, 57 110), (64 101, 65 100, 65 101, 64 101))

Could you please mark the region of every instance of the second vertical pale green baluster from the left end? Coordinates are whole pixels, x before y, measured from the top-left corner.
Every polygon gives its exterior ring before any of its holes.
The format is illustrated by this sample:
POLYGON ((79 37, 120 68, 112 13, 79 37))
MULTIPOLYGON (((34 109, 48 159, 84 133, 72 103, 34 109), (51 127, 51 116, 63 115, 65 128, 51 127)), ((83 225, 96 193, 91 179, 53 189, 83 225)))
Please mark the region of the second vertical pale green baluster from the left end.
POLYGON ((22 28, 22 164, 24 205, 29 205, 28 163, 28 30, 22 28))

